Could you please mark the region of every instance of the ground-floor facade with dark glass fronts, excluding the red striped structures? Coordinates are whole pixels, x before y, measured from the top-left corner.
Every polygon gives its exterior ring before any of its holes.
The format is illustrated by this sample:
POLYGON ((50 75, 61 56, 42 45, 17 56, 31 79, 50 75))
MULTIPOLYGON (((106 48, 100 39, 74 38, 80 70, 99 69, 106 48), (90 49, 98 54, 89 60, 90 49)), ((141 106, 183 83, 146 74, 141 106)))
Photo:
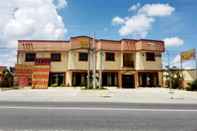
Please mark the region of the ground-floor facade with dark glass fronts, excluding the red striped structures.
MULTIPOLYGON (((55 73, 50 73, 55 74, 55 73)), ((51 76, 51 75, 49 75, 51 76)), ((96 83, 99 85, 99 71, 96 73, 96 83)), ((137 88, 137 87, 162 87, 163 73, 162 71, 102 71, 102 86, 118 87, 118 88, 137 88)), ((86 70, 72 70, 59 74, 56 77, 50 77, 51 82, 60 83, 65 86, 87 86, 88 72, 86 70), (58 77, 58 78, 57 78, 58 77), (64 79, 64 80, 63 80, 64 79), (61 82, 60 82, 61 81, 61 82)), ((90 82, 92 81, 92 73, 90 72, 90 82)), ((49 86, 52 86, 49 83, 49 86)))

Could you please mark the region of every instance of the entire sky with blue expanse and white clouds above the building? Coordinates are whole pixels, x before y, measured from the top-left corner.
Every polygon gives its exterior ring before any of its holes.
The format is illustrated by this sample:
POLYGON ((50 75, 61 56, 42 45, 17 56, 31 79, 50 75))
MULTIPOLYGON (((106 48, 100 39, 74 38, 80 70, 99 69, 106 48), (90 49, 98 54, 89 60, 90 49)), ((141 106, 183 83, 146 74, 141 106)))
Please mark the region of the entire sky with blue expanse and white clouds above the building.
MULTIPOLYGON (((197 48, 196 0, 0 1, 0 65, 16 63, 17 40, 98 39, 165 41, 164 64, 180 66, 181 51, 197 48)), ((194 67, 195 62, 184 63, 194 67)))

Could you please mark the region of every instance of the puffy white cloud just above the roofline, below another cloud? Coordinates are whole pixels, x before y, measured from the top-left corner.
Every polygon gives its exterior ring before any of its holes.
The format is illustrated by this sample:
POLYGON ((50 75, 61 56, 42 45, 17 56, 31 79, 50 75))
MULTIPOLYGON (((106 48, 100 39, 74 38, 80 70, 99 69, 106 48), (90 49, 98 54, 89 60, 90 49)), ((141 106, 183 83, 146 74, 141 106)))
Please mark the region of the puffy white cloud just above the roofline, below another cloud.
POLYGON ((149 18, 145 15, 136 15, 126 20, 124 25, 120 28, 119 33, 121 36, 133 34, 145 37, 153 22, 153 18, 149 18))

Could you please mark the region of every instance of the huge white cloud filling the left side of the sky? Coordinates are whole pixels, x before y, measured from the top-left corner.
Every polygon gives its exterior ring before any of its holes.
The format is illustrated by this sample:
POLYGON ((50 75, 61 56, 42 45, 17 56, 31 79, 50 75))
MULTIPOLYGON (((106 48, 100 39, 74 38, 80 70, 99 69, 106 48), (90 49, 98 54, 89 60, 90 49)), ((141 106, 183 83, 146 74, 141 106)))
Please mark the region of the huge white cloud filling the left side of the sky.
MULTIPOLYGON (((67 29, 58 10, 65 6, 66 0, 1 1, 0 47, 16 49, 19 39, 64 39, 67 29)), ((14 63, 1 55, 1 64, 14 63)))

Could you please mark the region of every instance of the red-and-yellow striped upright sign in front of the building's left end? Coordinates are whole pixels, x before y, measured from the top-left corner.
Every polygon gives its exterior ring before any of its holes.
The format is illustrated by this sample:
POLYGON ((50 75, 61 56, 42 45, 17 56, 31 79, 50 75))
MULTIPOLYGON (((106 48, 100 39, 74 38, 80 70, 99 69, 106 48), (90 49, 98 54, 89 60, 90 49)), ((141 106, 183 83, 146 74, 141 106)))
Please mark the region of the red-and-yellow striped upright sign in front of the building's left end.
POLYGON ((40 58, 35 60, 32 73, 32 88, 47 89, 50 71, 50 59, 40 58))

